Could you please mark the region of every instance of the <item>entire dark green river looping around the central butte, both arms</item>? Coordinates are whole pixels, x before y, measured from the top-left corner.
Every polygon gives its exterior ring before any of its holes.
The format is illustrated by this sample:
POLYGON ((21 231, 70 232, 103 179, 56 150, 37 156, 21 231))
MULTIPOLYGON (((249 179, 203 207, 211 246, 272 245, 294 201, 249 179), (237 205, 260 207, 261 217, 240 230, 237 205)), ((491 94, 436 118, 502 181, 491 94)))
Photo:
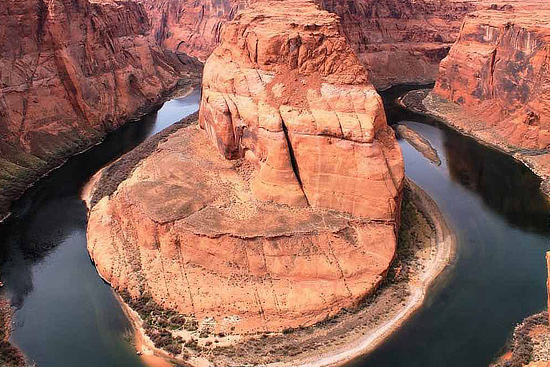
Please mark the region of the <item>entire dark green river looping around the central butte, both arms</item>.
MULTIPOLYGON (((426 303, 379 349, 350 366, 485 367, 513 326, 545 306, 548 202, 538 179, 510 157, 391 102, 388 120, 422 134, 435 166, 401 141, 406 173, 431 195, 457 232, 455 263, 426 303)), ((39 367, 142 366, 129 323, 86 251, 79 194, 102 166, 198 108, 199 92, 109 135, 71 158, 18 201, 0 226, 2 280, 17 307, 12 341, 39 367)))

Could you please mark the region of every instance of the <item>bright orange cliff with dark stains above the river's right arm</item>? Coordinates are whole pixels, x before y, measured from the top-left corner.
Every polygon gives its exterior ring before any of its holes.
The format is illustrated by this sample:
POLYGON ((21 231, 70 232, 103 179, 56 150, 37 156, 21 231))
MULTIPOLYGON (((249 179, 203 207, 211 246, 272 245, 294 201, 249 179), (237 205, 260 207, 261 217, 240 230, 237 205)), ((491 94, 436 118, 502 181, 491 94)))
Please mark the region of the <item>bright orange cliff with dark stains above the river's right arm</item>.
POLYGON ((469 14, 424 104, 548 178, 549 42, 548 2, 514 2, 469 14))

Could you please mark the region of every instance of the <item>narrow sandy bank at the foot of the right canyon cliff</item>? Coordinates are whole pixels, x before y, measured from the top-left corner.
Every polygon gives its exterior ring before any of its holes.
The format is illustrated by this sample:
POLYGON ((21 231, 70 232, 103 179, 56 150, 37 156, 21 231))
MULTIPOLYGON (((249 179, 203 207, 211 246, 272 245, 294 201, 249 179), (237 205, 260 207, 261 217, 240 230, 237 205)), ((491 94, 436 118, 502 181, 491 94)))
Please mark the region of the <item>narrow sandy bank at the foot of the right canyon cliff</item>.
POLYGON ((435 101, 434 95, 432 94, 432 89, 415 89, 411 90, 400 97, 396 99, 396 103, 411 112, 417 113, 419 115, 427 116, 430 118, 433 118, 437 120, 438 122, 442 123, 443 125, 455 130, 456 132, 460 133, 461 135, 467 136, 479 144, 486 146, 488 148, 494 149, 498 152, 501 152, 503 154, 506 154, 510 157, 512 157, 515 161, 518 163, 521 163, 525 167, 527 167, 533 174, 535 174, 538 178, 541 179, 540 183, 540 189, 545 194, 545 196, 550 200, 550 152, 547 153, 541 153, 537 154, 539 152, 532 152, 532 154, 527 154, 527 150, 523 150, 521 148, 515 148, 506 145, 505 143, 499 144, 498 142, 489 141, 488 139, 484 139, 479 133, 476 133, 475 131, 468 130, 465 127, 461 126, 459 123, 456 122, 456 120, 462 120, 467 121, 471 120, 474 117, 468 116, 467 111, 465 111, 464 108, 460 107, 459 105, 456 105, 453 102, 449 102, 446 100, 443 100, 442 98, 438 97, 438 99, 441 99, 441 101, 435 101), (422 96, 421 100, 415 99, 417 96, 422 96), (412 101, 407 101, 407 99, 413 99, 412 101), (420 106, 418 105, 420 103, 420 106), (454 108, 455 111, 453 111, 453 115, 459 115, 459 116, 450 116, 449 114, 445 114, 444 112, 441 112, 437 109, 437 107, 440 108, 454 108), (548 156, 548 164, 545 167, 544 163, 536 162, 536 157, 541 156, 548 156), (533 158, 535 157, 535 158, 533 158), (544 172, 546 171, 546 172, 544 172))

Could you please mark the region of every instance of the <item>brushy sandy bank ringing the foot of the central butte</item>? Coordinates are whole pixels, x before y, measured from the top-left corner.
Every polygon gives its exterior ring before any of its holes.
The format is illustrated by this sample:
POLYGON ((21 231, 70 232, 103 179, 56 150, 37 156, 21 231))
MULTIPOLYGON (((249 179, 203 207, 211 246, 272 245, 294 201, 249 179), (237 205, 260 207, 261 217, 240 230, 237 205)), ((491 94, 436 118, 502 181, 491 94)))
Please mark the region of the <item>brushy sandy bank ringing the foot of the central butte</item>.
MULTIPOLYGON (((168 128, 168 131, 159 133, 162 136, 160 140, 187 126, 193 117, 195 116, 190 116, 177 126, 168 128)), ((158 140, 157 136, 153 136, 149 143, 146 141, 143 145, 155 147, 156 144, 152 142, 158 143, 158 140)), ((145 149, 140 153, 138 147, 133 153, 136 156, 134 158, 143 159, 152 153, 152 150, 145 149)), ((121 166, 130 166, 131 171, 139 164, 139 159, 130 159, 131 165, 121 166)), ((124 163, 124 160, 118 162, 124 163)), ((109 166, 103 172, 113 173, 109 166)), ((129 172, 125 172, 123 176, 126 174, 129 172)), ((97 198, 98 191, 103 191, 101 182, 109 182, 108 179, 105 181, 105 178, 105 175, 98 173, 93 180, 100 186, 96 186, 95 190, 87 190, 86 195, 83 193, 83 200, 88 206, 90 202, 93 206, 92 197, 97 198)), ((114 187, 100 193, 99 196, 108 195, 113 188, 116 189, 117 181, 119 180, 114 179, 109 184, 114 187)), ((155 346, 147 335, 147 325, 143 319, 148 315, 140 315, 123 301, 123 297, 117 295, 117 298, 131 319, 138 353, 147 356, 146 362, 151 366, 163 365, 162 361, 155 360, 152 356, 170 360, 178 365, 192 366, 341 365, 372 351, 397 330, 422 305, 430 285, 453 259, 456 241, 452 230, 435 202, 410 180, 405 188, 400 238, 396 259, 384 284, 357 308, 344 310, 337 316, 311 327, 285 330, 278 334, 219 338, 209 335, 202 338, 200 335, 187 333, 191 339, 186 340, 184 345, 188 345, 189 341, 193 344, 191 349, 183 348, 185 359, 182 358, 182 354, 178 358, 155 346)))

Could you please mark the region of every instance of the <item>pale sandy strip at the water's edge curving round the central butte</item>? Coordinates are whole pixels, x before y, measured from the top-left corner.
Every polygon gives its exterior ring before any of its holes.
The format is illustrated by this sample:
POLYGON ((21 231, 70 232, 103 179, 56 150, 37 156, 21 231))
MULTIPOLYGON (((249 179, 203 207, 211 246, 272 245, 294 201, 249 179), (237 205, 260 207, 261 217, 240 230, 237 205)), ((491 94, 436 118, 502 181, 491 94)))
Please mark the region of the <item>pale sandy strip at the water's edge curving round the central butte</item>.
MULTIPOLYGON (((357 334, 361 332, 362 332, 362 335, 359 338, 354 338, 352 341, 348 341, 347 343, 344 343, 343 345, 339 345, 337 347, 332 347, 332 348, 330 347, 330 345, 328 347, 325 346, 325 348, 327 348, 327 350, 325 351, 319 351, 316 349, 313 356, 304 356, 302 358, 293 358, 292 356, 287 356, 289 360, 286 360, 286 361, 268 362, 268 363, 259 362, 257 363, 257 365, 266 366, 266 367, 341 366, 345 363, 350 362, 353 359, 356 359, 360 356, 366 355, 369 352, 373 351, 380 344, 382 344, 391 334, 393 334, 396 330, 398 330, 422 306, 429 288, 434 284, 434 281, 438 278, 438 276, 453 262, 453 259, 456 254, 456 237, 452 229, 449 227, 445 217, 439 211, 439 208, 437 207, 436 203, 429 197, 429 195, 425 193, 420 187, 418 187, 410 179, 407 179, 406 186, 412 193, 412 201, 414 203, 413 204, 414 207, 420 212, 420 215, 424 216, 426 221, 429 223, 431 229, 433 230, 432 239, 434 240, 433 245, 435 247, 435 254, 427 261, 426 268, 424 269, 424 271, 422 271, 419 274, 417 279, 408 281, 408 286, 411 289, 411 294, 410 296, 408 296, 407 302, 405 302, 405 304, 402 305, 402 307, 398 307, 398 310, 394 310, 391 317, 388 317, 388 319, 384 320, 380 325, 376 325, 376 327, 372 329, 365 331, 365 330, 355 330, 355 329, 347 330, 346 328, 344 328, 345 329, 344 332, 347 331, 348 337, 350 336, 349 334, 357 334)), ((391 286, 392 285, 389 285, 387 288, 391 288, 391 286)), ((384 291, 385 290, 381 290, 381 292, 384 292, 384 291)), ((386 301, 387 301, 388 297, 387 295, 386 297, 377 295, 372 301, 373 304, 375 304, 374 307, 376 307, 376 303, 382 298, 386 298, 386 301)), ((127 305, 126 302, 124 302, 124 300, 118 294, 117 294, 117 300, 119 300, 119 302, 121 303, 121 306, 125 310, 125 313, 131 319, 135 345, 136 345, 136 348, 138 348, 138 353, 139 352, 144 353, 144 351, 146 351, 152 355, 156 355, 158 358, 164 357, 170 361, 177 361, 177 363, 180 363, 180 364, 184 363, 186 365, 190 365, 194 367, 204 367, 204 366, 213 365, 213 363, 210 360, 207 360, 202 356, 193 357, 190 360, 181 360, 178 358, 168 356, 168 354, 164 350, 155 347, 153 342, 146 335, 145 329, 143 328, 143 319, 141 318, 141 316, 137 312, 132 310, 130 306, 127 305), (139 348, 141 348, 141 350, 139 350, 139 348)), ((395 303, 399 303, 398 302, 399 300, 394 299, 393 301, 395 301, 395 303)), ((355 313, 354 311, 349 311, 351 312, 350 317, 352 319, 353 317, 356 317, 358 320, 361 320, 364 316, 363 314, 365 313, 368 314, 369 311, 371 311, 370 307, 372 307, 372 304, 359 307, 359 309, 356 310, 355 313)), ((341 318, 343 320, 340 321, 340 323, 350 322, 349 320, 346 320, 345 317, 346 316, 344 315, 341 318)), ((352 323, 357 322, 358 320, 352 320, 351 322, 352 323)), ((319 334, 317 336, 319 336, 320 338, 323 338, 324 334, 329 334, 330 330, 327 330, 326 329, 327 327, 330 328, 331 326, 314 325, 306 329, 309 329, 308 334, 317 333, 319 334)), ((360 329, 360 327, 358 327, 358 329, 360 329)), ((298 331, 298 332, 301 332, 301 331, 298 331)), ((356 336, 356 335, 351 335, 351 336, 356 336)), ((296 340, 299 343, 300 337, 296 338, 296 340)), ((305 338, 302 341, 307 343, 307 338, 305 338)), ((266 343, 270 343, 270 337, 266 338, 266 343)), ((248 353, 249 355, 248 358, 254 358, 255 357, 254 353, 259 353, 259 352, 248 353)), ((239 362, 239 361, 231 360, 231 362, 232 363, 227 363, 224 365, 234 366, 234 365, 248 364, 247 362, 244 362, 244 361, 239 362)), ((155 367, 155 366, 157 365, 154 365, 154 364, 151 365, 151 367, 155 367)))

